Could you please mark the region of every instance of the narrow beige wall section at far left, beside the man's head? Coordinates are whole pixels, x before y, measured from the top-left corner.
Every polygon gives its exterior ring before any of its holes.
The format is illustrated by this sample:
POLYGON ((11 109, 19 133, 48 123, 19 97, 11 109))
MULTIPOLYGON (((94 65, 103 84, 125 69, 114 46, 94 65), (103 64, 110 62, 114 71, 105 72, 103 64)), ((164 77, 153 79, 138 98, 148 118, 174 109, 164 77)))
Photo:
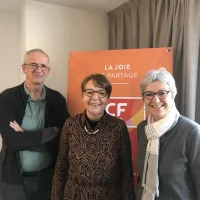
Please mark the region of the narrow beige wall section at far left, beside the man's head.
POLYGON ((19 15, 0 12, 0 92, 20 83, 19 15))

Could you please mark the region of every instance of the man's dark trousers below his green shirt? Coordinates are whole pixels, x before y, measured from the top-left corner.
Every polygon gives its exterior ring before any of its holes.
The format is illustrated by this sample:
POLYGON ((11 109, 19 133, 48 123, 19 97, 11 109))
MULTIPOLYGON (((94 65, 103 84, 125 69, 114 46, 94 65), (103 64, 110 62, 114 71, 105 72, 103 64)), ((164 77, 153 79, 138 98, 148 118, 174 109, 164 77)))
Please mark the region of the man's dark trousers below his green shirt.
POLYGON ((3 200, 51 200, 53 169, 37 176, 22 177, 23 185, 2 183, 3 200))

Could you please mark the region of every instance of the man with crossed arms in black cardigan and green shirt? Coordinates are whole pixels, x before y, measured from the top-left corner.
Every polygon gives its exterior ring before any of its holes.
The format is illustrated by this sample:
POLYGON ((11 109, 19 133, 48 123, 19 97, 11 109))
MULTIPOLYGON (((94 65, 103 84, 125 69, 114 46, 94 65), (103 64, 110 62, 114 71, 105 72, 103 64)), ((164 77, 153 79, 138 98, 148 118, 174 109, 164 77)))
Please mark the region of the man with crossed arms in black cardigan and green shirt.
POLYGON ((44 85, 50 73, 44 51, 28 51, 22 70, 25 82, 0 94, 2 198, 50 200, 60 131, 69 114, 65 98, 44 85))

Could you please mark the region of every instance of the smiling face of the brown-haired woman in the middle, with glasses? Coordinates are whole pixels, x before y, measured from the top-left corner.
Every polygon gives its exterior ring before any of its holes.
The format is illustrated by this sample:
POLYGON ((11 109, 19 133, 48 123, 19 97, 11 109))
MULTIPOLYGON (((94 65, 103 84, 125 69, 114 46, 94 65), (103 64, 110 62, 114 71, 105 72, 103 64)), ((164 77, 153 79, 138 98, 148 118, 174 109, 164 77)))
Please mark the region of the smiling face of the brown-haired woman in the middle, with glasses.
POLYGON ((99 120, 104 114, 107 103, 108 95, 105 89, 96 87, 93 80, 88 81, 83 93, 83 104, 88 118, 99 120))

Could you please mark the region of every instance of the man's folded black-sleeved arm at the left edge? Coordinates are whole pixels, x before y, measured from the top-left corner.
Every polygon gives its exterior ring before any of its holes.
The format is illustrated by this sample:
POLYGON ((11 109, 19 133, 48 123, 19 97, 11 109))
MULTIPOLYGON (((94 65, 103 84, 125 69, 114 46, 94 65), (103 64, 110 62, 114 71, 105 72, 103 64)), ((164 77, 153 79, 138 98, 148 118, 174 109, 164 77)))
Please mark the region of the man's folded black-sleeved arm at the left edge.
POLYGON ((24 150, 31 147, 40 145, 47 140, 51 140, 57 135, 56 131, 52 128, 37 131, 18 131, 12 128, 15 113, 17 110, 16 105, 10 102, 10 97, 5 93, 0 95, 0 132, 3 142, 7 148, 14 150, 24 150), (48 137, 47 137, 48 135, 48 137), (46 136, 45 138, 43 138, 46 136))

